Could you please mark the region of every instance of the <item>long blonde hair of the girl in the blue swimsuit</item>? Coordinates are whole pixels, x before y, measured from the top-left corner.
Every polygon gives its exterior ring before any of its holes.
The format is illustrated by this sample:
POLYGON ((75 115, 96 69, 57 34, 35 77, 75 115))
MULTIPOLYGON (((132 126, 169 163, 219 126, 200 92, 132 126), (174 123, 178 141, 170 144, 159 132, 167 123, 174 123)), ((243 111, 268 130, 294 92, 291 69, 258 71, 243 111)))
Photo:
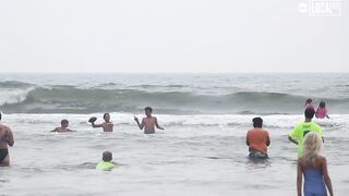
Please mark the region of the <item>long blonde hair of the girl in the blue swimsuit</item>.
POLYGON ((323 145, 322 138, 314 132, 310 132, 305 135, 303 140, 303 157, 305 161, 312 164, 320 154, 323 145))

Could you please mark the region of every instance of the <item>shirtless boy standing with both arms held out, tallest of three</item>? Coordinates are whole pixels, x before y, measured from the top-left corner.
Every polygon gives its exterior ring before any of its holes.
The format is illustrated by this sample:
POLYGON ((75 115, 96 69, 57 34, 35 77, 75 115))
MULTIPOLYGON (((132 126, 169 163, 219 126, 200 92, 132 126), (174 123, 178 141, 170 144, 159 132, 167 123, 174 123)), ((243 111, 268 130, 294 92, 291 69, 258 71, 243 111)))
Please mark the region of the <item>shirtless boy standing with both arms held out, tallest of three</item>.
POLYGON ((156 117, 153 117, 153 109, 151 107, 146 107, 144 109, 145 118, 143 118, 142 123, 140 123, 139 118, 134 117, 134 121, 137 123, 140 130, 144 128, 145 134, 154 134, 155 126, 159 130, 165 130, 164 127, 159 126, 156 117))

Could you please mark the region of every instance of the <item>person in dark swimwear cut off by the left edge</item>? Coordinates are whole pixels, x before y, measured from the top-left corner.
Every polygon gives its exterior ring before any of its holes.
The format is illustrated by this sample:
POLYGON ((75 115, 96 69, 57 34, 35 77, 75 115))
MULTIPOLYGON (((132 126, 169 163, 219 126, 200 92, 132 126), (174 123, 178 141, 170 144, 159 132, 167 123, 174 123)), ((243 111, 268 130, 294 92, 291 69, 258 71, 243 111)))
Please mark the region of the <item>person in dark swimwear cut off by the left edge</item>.
MULTIPOLYGON (((2 114, 0 113, 0 121, 2 114)), ((0 167, 10 166, 9 146, 13 146, 14 138, 12 130, 0 123, 0 167)))

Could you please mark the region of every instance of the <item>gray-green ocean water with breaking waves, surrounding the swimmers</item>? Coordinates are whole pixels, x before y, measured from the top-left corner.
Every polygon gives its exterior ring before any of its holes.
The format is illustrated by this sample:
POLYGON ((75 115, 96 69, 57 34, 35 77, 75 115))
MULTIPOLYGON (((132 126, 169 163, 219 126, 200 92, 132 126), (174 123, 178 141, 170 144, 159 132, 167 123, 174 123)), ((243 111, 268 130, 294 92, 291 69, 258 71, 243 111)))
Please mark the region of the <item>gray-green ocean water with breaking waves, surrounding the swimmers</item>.
POLYGON ((292 196, 306 98, 327 103, 324 128, 335 194, 349 194, 349 74, 0 74, 12 166, 0 195, 292 196), (144 135, 146 106, 165 131, 144 135), (111 113, 113 133, 87 123, 111 113), (269 159, 248 159, 245 133, 262 117, 269 159), (49 133, 70 121, 74 133, 49 133), (95 170, 104 150, 119 164, 95 170))

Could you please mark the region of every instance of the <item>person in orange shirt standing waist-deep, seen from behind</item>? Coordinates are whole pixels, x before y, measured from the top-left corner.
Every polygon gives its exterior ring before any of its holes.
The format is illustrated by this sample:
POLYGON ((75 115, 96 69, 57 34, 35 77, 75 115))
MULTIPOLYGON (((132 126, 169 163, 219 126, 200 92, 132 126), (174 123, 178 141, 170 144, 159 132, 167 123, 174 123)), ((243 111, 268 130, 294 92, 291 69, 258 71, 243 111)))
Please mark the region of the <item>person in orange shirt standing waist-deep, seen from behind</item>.
POLYGON ((250 158, 268 158, 267 147, 270 145, 269 133, 262 128, 263 119, 254 118, 253 130, 246 134, 250 158))

